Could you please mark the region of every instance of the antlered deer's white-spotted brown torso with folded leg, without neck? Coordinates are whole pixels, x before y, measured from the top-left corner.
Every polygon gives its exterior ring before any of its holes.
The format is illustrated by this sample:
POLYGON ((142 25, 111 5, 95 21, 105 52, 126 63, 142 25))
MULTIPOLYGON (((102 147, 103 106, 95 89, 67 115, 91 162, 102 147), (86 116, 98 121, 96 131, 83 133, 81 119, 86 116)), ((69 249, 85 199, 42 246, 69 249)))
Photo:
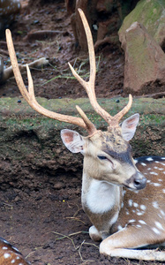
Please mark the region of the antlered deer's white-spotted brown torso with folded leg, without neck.
POLYGON ((138 169, 146 176, 146 188, 123 192, 122 204, 113 235, 101 242, 102 254, 125 258, 165 261, 165 252, 132 250, 147 246, 165 246, 165 157, 141 157, 138 169))

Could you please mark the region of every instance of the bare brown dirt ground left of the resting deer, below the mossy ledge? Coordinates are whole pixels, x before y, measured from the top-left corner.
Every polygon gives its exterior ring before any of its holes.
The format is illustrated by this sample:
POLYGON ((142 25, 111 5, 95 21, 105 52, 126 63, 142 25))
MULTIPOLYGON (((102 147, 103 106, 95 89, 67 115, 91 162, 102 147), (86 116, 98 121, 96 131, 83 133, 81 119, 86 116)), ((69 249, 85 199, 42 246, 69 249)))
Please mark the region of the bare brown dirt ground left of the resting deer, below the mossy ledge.
POLYGON ((161 264, 99 254, 99 243, 89 238, 90 222, 81 208, 80 175, 49 176, 48 182, 42 174, 34 191, 25 190, 24 179, 18 189, 0 191, 1 236, 36 265, 161 264))

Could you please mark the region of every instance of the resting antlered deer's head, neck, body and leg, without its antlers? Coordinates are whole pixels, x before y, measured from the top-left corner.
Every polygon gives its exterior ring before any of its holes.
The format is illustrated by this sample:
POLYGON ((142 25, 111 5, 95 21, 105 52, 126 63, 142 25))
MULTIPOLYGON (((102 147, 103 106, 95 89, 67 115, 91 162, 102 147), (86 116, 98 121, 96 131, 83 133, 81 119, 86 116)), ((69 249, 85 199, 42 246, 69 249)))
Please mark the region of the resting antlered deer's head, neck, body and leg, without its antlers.
MULTIPOLYGON (((93 223, 91 239, 102 240, 101 253, 153 260, 150 250, 125 251, 165 245, 165 157, 132 160, 126 140, 131 140, 138 122, 138 114, 126 119, 117 136, 98 131, 78 139, 76 132, 63 130, 62 140, 70 151, 84 155, 82 206, 93 223)), ((165 260, 165 253, 157 254, 165 260)))

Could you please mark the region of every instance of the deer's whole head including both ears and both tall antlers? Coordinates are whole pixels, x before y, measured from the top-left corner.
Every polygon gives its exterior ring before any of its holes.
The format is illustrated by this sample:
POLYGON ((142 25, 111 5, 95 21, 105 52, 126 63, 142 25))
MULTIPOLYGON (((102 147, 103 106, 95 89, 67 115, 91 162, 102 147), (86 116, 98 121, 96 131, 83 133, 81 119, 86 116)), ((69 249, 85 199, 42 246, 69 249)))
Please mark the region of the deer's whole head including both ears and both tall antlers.
POLYGON ((92 34, 88 27, 86 17, 83 11, 79 10, 84 28, 86 30, 87 45, 89 50, 90 78, 89 81, 81 79, 74 71, 71 64, 71 72, 79 83, 86 89, 90 103, 94 110, 108 123, 108 131, 101 132, 97 130, 92 122, 86 117, 83 110, 77 106, 81 117, 71 117, 57 114, 41 107, 35 100, 34 85, 28 65, 28 91, 24 85, 19 72, 19 66, 15 55, 15 50, 11 40, 11 32, 6 30, 6 39, 11 57, 12 69, 18 84, 20 93, 26 99, 29 105, 42 115, 52 117, 59 121, 79 125, 86 129, 88 136, 83 137, 79 133, 64 129, 61 132, 64 145, 73 153, 82 153, 84 155, 84 173, 90 178, 109 182, 118 186, 127 186, 132 189, 141 189, 146 186, 146 178, 137 170, 131 157, 131 146, 129 140, 133 137, 139 122, 139 114, 127 118, 120 126, 119 121, 130 110, 132 96, 129 95, 129 102, 114 117, 110 116, 106 110, 103 110, 96 100, 94 92, 95 82, 95 56, 92 34))

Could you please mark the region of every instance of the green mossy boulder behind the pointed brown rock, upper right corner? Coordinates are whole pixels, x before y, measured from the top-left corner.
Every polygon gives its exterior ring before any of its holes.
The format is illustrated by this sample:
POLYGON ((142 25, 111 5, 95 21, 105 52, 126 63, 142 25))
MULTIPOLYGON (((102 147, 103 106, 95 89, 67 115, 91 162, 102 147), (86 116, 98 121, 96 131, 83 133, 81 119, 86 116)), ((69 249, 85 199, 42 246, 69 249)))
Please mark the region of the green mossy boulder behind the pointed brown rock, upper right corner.
POLYGON ((165 1, 140 0, 131 13, 125 17, 118 34, 120 42, 125 42, 125 31, 135 21, 141 23, 148 34, 165 49, 165 1))

